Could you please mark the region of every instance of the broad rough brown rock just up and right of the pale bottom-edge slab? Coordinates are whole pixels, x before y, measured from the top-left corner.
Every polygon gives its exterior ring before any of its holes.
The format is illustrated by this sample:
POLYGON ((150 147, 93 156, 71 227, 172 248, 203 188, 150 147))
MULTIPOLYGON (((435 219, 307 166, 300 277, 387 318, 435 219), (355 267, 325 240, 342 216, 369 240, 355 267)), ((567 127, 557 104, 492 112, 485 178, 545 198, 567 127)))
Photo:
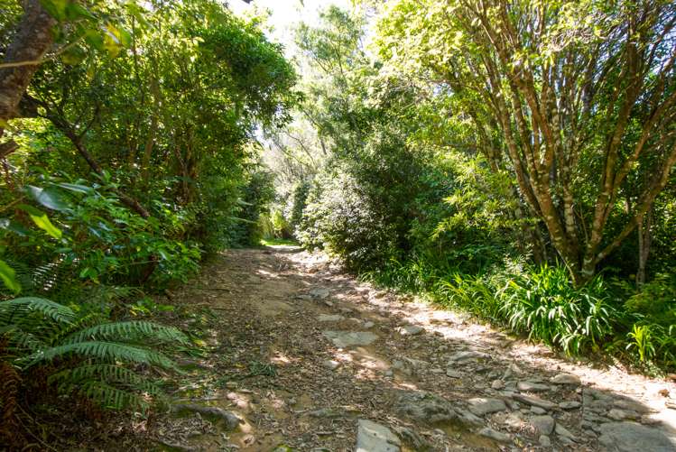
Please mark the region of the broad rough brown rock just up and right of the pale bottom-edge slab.
POLYGON ((429 392, 399 391, 394 410, 402 416, 423 424, 436 424, 458 419, 449 401, 429 392))

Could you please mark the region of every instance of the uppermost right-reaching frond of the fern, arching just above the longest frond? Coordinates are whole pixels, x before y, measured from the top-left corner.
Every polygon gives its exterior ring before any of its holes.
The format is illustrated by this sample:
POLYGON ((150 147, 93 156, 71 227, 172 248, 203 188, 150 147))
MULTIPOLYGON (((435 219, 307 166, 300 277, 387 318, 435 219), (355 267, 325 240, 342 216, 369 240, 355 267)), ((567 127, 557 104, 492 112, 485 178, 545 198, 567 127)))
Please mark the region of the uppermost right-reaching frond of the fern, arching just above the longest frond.
POLYGON ((165 327, 147 321, 129 321, 104 323, 82 329, 63 341, 64 344, 73 344, 85 340, 116 340, 135 341, 138 339, 156 339, 162 342, 178 342, 188 345, 188 337, 175 327, 165 327))

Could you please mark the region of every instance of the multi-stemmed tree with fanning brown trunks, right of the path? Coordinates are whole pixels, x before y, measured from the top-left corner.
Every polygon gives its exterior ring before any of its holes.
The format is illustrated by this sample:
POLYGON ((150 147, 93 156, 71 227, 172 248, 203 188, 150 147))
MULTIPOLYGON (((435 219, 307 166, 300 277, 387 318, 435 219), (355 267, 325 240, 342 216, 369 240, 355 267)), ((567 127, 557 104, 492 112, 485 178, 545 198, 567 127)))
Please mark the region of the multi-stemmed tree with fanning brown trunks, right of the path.
POLYGON ((384 57, 447 86, 484 142, 499 131, 521 196, 583 283, 676 163, 674 24, 665 0, 401 0, 380 31, 384 57), (650 177, 627 215, 636 171, 650 177))

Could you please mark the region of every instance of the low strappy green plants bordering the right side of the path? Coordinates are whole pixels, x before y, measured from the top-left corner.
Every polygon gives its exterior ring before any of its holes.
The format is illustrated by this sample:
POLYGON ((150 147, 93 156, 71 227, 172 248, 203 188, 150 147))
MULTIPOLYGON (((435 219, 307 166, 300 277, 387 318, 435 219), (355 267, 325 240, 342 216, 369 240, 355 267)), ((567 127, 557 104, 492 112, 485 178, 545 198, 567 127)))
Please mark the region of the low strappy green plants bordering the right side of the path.
POLYGON ((598 275, 576 288, 564 267, 505 260, 468 274, 424 261, 392 261, 362 278, 424 294, 566 355, 615 355, 648 374, 676 369, 672 275, 635 290, 598 275))

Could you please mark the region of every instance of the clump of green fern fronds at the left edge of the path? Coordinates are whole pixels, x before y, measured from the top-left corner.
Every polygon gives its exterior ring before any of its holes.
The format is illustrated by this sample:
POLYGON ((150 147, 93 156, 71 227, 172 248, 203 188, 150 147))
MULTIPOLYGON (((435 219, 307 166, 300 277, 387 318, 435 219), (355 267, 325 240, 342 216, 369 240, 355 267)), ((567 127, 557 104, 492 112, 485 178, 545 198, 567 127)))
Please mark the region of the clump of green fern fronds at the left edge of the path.
POLYGON ((146 409, 152 397, 162 397, 147 376, 134 371, 137 364, 175 369, 171 359, 149 346, 188 344, 173 327, 109 322, 98 313, 35 297, 0 301, 0 331, 9 345, 3 357, 23 372, 42 365, 59 392, 116 410, 146 409))

